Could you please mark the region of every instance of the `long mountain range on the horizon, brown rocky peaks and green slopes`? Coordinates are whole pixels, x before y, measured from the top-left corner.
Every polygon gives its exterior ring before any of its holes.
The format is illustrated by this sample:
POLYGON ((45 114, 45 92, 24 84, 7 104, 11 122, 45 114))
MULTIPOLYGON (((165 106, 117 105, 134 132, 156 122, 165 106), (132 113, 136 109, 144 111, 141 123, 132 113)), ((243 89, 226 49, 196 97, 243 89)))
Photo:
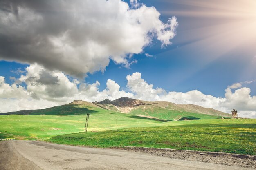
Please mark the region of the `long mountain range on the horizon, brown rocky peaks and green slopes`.
POLYGON ((166 101, 143 101, 121 97, 116 100, 105 99, 100 102, 86 102, 74 100, 61 106, 37 110, 21 110, 0 113, 0 115, 84 115, 86 113, 122 113, 130 117, 155 119, 159 121, 173 121, 186 119, 216 119, 217 117, 231 117, 231 114, 204 108, 193 104, 175 104, 166 101))

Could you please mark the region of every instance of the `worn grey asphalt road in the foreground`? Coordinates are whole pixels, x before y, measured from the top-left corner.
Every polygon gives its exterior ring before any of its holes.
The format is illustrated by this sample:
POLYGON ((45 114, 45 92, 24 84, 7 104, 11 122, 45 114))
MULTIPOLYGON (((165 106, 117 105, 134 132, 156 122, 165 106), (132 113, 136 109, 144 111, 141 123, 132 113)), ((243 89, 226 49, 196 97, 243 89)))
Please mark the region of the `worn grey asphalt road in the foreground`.
POLYGON ((0 141, 0 170, 249 170, 126 150, 0 141))

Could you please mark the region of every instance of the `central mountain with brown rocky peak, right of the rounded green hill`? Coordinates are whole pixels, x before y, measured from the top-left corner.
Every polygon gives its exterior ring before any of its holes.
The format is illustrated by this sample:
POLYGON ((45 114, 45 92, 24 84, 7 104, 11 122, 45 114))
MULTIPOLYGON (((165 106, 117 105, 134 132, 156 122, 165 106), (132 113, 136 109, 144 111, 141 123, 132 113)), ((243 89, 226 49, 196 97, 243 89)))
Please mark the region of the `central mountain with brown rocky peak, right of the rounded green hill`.
POLYGON ((186 116, 186 119, 196 119, 198 117, 194 117, 193 115, 195 114, 197 114, 196 116, 203 114, 217 117, 231 117, 231 114, 193 104, 175 104, 166 101, 149 102, 128 97, 121 97, 113 101, 105 99, 92 103, 108 110, 157 119, 171 118, 173 120, 179 120, 184 118, 184 116, 186 116))

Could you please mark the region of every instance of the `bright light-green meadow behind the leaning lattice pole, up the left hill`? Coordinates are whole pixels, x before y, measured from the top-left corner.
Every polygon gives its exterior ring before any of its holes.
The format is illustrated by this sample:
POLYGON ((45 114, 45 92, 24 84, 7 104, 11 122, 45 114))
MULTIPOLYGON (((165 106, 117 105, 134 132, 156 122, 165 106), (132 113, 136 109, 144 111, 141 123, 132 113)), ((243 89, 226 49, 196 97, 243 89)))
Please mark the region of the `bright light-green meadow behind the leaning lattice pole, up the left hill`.
POLYGON ((43 115, 40 112, 32 115, 0 115, 0 139, 45 140, 56 135, 83 132, 86 113, 90 113, 88 131, 146 127, 162 123, 101 108, 80 107, 54 107, 52 111, 44 111, 43 115))

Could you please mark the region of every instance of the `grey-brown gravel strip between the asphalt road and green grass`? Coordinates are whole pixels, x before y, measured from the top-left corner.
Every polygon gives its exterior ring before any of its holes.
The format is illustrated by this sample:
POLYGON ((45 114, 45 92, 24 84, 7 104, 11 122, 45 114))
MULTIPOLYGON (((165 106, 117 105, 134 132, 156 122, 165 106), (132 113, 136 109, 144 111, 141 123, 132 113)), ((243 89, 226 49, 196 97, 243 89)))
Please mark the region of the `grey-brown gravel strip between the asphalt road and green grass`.
POLYGON ((239 166, 256 169, 256 155, 239 155, 221 152, 204 152, 190 150, 173 150, 173 149, 156 149, 156 148, 138 148, 123 147, 116 148, 121 150, 129 150, 133 152, 148 153, 172 159, 182 159, 187 161, 199 161, 207 163, 218 163, 229 166, 239 166))

